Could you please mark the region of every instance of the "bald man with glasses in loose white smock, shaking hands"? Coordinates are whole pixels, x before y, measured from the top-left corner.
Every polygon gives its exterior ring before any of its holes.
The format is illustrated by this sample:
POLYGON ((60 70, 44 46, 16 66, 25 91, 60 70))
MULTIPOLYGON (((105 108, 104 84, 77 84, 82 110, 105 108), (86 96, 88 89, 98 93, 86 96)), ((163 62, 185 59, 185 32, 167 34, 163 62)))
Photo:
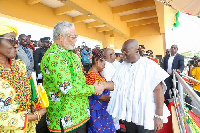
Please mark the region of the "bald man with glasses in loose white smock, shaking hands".
POLYGON ((115 84, 108 112, 126 120, 127 133, 153 133, 162 129, 170 115, 164 106, 164 80, 169 76, 158 64, 141 57, 137 40, 122 46, 124 62, 112 81, 115 84))

